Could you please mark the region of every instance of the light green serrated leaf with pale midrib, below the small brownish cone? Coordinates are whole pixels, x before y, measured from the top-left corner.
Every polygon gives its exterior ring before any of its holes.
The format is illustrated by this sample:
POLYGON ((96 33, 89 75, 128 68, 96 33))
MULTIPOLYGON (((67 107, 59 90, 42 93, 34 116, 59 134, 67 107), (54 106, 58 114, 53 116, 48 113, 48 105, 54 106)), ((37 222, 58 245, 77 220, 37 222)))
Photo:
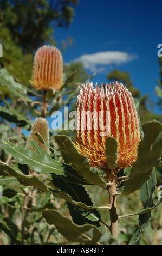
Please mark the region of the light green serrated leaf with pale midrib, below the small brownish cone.
POLYGON ((52 159, 51 156, 47 154, 37 156, 33 150, 25 149, 20 145, 15 146, 11 142, 8 142, 7 139, 4 139, 2 148, 14 156, 19 163, 28 164, 36 173, 64 175, 62 163, 52 159))

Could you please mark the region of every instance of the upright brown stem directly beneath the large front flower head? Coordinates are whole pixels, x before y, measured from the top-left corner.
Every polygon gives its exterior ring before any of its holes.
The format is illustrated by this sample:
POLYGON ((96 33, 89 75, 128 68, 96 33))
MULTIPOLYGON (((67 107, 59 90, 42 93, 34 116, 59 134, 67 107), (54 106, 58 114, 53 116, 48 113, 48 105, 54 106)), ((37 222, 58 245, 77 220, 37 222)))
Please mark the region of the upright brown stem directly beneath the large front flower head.
POLYGON ((117 239, 118 238, 118 213, 117 213, 117 205, 116 205, 116 188, 117 188, 117 177, 115 170, 110 170, 110 172, 106 172, 107 181, 110 182, 111 185, 108 186, 107 190, 109 193, 109 213, 110 213, 110 221, 111 221, 111 235, 117 239))

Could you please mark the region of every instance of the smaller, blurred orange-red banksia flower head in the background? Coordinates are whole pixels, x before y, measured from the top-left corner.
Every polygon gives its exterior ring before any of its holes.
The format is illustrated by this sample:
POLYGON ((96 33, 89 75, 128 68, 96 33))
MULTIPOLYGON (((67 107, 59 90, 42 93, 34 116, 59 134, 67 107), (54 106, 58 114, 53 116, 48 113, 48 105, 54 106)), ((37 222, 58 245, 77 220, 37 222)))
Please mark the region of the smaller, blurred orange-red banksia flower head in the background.
POLYGON ((36 90, 59 90, 63 82, 63 60, 59 49, 44 45, 35 53, 31 84, 36 90))

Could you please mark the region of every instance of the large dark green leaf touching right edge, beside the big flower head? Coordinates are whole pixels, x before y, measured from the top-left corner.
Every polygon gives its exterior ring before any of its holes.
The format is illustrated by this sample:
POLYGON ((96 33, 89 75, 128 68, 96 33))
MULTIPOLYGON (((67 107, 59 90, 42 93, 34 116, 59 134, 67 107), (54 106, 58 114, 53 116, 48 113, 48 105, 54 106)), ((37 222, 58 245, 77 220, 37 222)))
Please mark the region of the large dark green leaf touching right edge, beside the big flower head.
POLYGON ((122 194, 131 194, 141 188, 159 166, 162 149, 162 126, 158 121, 150 121, 142 126, 144 136, 138 147, 138 159, 131 168, 129 179, 125 182, 122 194))

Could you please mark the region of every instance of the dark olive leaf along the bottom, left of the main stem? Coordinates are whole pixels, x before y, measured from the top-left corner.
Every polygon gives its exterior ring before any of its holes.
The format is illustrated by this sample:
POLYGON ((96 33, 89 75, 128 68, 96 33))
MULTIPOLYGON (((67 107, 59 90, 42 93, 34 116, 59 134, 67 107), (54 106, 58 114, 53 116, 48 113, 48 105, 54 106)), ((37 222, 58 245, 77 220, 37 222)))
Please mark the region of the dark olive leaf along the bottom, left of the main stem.
POLYGON ((62 216, 56 210, 42 212, 43 217, 66 239, 73 242, 83 243, 84 245, 116 245, 116 240, 108 234, 102 234, 94 225, 76 225, 69 218, 62 216))

